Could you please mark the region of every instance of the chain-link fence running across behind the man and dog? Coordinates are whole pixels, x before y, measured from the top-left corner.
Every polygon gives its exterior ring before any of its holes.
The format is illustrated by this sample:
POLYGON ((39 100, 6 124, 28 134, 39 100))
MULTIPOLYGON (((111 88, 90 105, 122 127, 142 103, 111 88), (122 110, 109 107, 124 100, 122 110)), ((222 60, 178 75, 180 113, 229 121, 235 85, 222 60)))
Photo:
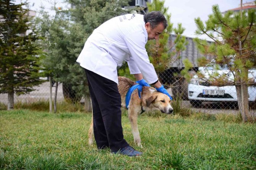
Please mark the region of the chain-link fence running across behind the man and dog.
MULTIPOLYGON (((203 113, 228 113, 237 114, 238 102, 235 86, 217 87, 209 82, 191 79, 187 82, 184 78, 179 78, 177 69, 168 69, 164 73, 159 74, 159 79, 165 84, 165 88, 172 95, 174 100, 182 100, 181 105, 185 108, 190 108, 193 111, 203 113)), ((191 75, 196 75, 196 70, 190 71, 191 75)), ((52 83, 52 100, 55 97, 56 83, 52 83)), ((35 87, 35 91, 24 95, 15 95, 16 102, 38 102, 47 101, 50 99, 50 82, 46 81, 40 86, 35 87)), ((256 113, 256 86, 248 87, 248 100, 250 112, 256 113)), ((71 87, 63 83, 58 83, 57 102, 64 100, 70 101, 75 99, 75 93, 71 87)), ((85 103, 88 111, 90 111, 90 100, 79 99, 77 102, 85 103)), ((0 102, 7 104, 8 95, 0 94, 0 102)))

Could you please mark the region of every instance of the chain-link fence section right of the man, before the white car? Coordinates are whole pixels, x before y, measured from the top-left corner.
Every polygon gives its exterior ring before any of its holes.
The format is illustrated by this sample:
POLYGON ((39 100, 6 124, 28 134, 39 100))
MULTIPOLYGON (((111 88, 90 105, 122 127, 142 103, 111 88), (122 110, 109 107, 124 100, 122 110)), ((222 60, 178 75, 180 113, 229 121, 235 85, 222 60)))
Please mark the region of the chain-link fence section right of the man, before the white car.
MULTIPOLYGON (((159 74, 159 79, 173 96, 182 100, 183 107, 204 113, 239 113, 235 86, 214 86, 211 82, 198 79, 196 71, 189 74, 190 82, 179 76, 180 69, 171 68, 159 74)), ((254 79, 256 82, 256 79, 254 79)), ((256 86, 248 86, 249 110, 256 115, 256 86)))

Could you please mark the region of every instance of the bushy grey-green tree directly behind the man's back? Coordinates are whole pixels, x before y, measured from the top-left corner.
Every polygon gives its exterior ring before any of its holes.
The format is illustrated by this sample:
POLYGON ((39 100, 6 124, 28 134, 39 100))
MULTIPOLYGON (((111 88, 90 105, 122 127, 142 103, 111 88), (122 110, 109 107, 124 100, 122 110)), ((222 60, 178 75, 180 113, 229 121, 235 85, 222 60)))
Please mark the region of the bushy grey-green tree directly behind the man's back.
MULTIPOLYGON (((67 0, 74 8, 58 10, 55 17, 41 10, 37 29, 45 37, 46 55, 42 60, 45 70, 54 81, 70 87, 75 100, 89 95, 86 75, 76 59, 94 29, 108 19, 124 12, 126 0, 67 0)), ((64 89, 65 91, 65 89, 64 89)))

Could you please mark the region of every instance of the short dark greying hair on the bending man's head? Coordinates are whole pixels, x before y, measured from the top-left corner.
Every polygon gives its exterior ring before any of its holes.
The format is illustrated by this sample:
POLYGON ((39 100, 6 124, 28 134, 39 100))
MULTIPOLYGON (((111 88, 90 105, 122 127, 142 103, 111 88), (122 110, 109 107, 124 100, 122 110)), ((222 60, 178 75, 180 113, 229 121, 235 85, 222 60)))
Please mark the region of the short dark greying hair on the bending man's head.
POLYGON ((164 25, 164 29, 167 27, 167 21, 160 11, 152 11, 150 13, 144 14, 144 22, 145 24, 149 22, 152 29, 154 29, 160 23, 164 25))

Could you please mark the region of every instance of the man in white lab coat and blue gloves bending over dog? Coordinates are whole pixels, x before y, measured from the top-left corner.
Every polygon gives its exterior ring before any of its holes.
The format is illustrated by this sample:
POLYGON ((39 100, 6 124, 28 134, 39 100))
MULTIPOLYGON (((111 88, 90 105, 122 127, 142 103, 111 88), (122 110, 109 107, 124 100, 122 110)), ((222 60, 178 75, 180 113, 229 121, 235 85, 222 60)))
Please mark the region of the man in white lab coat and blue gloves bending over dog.
POLYGON ((123 138, 117 67, 127 61, 137 83, 152 84, 157 91, 170 97, 158 81, 145 49, 147 40, 159 38, 166 27, 167 21, 159 11, 145 15, 125 14, 100 25, 84 44, 76 61, 86 72, 92 99, 94 137, 99 149, 109 147, 112 153, 127 156, 142 154, 123 138))

